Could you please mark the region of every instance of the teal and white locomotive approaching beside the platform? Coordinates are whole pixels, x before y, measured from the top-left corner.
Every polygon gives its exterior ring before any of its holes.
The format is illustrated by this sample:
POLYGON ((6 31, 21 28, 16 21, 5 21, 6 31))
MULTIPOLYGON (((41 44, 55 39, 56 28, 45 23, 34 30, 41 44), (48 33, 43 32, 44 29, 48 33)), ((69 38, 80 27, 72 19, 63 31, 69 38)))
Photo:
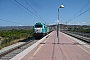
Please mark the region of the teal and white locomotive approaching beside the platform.
POLYGON ((44 23, 36 23, 33 27, 33 30, 34 30, 33 36, 35 38, 37 37, 40 38, 50 32, 50 27, 45 25, 44 23))

